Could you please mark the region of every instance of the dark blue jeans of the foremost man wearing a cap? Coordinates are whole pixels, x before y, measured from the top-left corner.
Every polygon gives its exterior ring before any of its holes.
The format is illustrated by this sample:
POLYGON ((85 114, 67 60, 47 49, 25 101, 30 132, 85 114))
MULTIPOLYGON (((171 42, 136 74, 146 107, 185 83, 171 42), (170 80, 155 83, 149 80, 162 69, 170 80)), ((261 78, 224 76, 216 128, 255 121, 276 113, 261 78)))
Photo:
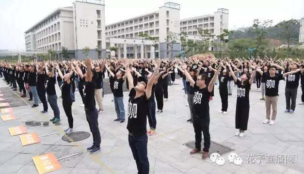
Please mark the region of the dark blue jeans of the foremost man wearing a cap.
POLYGON ((149 159, 147 151, 148 136, 146 133, 142 135, 129 135, 129 146, 131 148, 133 158, 136 161, 138 174, 149 174, 149 159))

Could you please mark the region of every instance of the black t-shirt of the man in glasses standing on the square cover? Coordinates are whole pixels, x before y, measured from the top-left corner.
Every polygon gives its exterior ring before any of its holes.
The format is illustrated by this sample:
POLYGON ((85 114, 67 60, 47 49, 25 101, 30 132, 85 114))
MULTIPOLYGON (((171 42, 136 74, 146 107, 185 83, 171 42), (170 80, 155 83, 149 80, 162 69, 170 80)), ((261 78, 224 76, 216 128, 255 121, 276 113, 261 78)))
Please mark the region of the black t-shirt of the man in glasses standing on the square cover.
POLYGON ((208 88, 199 89, 194 83, 194 97, 193 97, 193 113, 196 117, 209 117, 209 96, 208 88))

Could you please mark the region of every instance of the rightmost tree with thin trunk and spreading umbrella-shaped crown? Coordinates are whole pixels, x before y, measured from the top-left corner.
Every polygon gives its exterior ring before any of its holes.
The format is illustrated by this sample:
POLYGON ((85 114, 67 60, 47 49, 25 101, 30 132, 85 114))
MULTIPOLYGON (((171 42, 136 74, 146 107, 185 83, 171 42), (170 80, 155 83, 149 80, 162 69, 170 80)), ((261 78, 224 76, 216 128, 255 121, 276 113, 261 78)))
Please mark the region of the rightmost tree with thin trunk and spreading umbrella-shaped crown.
POLYGON ((288 57, 289 57, 289 44, 290 44, 290 37, 293 32, 299 31, 298 25, 300 24, 299 20, 290 19, 287 21, 283 21, 275 25, 274 27, 280 28, 282 30, 283 37, 287 39, 287 50, 288 50, 288 57))

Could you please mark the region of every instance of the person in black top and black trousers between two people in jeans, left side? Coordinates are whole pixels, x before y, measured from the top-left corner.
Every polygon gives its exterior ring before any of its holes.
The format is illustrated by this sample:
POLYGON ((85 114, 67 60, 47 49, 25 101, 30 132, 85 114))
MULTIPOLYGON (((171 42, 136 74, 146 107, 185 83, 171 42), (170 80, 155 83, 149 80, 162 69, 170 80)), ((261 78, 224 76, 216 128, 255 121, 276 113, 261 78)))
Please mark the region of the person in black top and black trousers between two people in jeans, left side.
POLYGON ((37 94, 39 96, 40 101, 43 104, 43 111, 40 111, 42 114, 48 112, 48 102, 46 98, 46 86, 45 86, 45 73, 44 73, 44 64, 40 65, 38 69, 38 75, 37 75, 37 94))

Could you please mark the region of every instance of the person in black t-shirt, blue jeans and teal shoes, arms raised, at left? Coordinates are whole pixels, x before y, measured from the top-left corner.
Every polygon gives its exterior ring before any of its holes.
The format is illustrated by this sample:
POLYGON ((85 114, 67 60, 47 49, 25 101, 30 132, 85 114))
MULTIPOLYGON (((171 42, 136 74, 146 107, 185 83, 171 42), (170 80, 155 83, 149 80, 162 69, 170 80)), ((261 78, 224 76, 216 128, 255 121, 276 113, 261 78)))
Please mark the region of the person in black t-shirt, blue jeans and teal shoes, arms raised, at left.
POLYGON ((60 110, 59 110, 59 107, 57 104, 57 95, 56 95, 56 90, 55 90, 55 83, 56 83, 55 67, 52 65, 52 67, 50 67, 50 68, 51 68, 51 70, 48 69, 47 65, 45 66, 45 69, 46 69, 46 72, 48 75, 48 79, 47 79, 47 83, 46 83, 48 103, 54 112, 54 117, 52 119, 50 119, 49 121, 51 121, 53 123, 57 123, 57 122, 60 122, 60 110))

